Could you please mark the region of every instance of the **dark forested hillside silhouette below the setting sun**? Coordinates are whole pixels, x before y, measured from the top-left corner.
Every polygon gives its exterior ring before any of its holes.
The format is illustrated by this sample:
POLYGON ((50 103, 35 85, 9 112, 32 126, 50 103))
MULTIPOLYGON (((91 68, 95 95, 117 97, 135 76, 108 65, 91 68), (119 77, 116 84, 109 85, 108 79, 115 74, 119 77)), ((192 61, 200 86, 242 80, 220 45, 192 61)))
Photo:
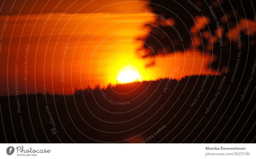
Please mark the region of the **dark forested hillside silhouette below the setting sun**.
POLYGON ((231 74, 223 76, 118 84, 73 95, 20 95, 20 113, 15 96, 0 97, 1 142, 255 142, 255 83, 240 101, 249 75, 237 74, 233 83, 231 74))

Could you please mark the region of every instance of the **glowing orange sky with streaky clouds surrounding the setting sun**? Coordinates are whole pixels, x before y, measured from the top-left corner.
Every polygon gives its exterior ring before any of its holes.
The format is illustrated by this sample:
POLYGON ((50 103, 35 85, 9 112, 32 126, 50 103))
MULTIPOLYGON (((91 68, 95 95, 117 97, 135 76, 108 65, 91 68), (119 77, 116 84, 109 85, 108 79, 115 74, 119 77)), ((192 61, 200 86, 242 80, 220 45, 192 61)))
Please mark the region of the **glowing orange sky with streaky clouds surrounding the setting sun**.
MULTIPOLYGON (((53 12, 48 21, 49 13, 11 15, 0 54, 3 90, 7 90, 8 69, 9 94, 16 91, 15 65, 18 65, 20 94, 26 93, 26 82, 29 94, 45 91, 60 94, 62 85, 67 94, 88 85, 94 88, 99 82, 106 86, 116 83, 118 71, 127 65, 137 68, 142 80, 168 78, 175 66, 179 66, 174 75, 177 79, 215 74, 207 68, 212 60, 209 54, 187 51, 186 54, 177 52, 144 57, 143 52, 137 52, 143 43, 136 39, 149 33, 145 24, 154 22, 154 17, 144 13, 145 10, 150 11, 145 3, 126 4, 123 9, 121 4, 116 5, 94 13, 53 12), (28 64, 24 63, 26 55, 28 64), (148 66, 152 62, 156 64, 148 66), (28 79, 24 80, 26 67, 28 79), (65 75, 62 79, 61 74, 65 75)), ((97 4, 93 6, 100 7, 97 4)), ((1 16, 2 21, 5 17, 1 16)), ((7 91, 0 93, 6 95, 7 91)))

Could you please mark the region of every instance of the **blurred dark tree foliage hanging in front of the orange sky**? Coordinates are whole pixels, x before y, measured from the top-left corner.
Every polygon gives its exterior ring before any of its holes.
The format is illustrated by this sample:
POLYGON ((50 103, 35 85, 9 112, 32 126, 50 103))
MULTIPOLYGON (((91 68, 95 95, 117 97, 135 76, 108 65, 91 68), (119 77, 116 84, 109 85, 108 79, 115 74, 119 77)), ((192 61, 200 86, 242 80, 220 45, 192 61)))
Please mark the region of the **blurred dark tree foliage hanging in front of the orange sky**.
POLYGON ((173 54, 187 49, 210 53, 216 57, 210 64, 214 69, 233 69, 238 51, 238 36, 234 34, 241 35, 244 60, 247 59, 248 47, 255 50, 255 33, 252 31, 255 25, 251 23, 255 22, 254 3, 238 0, 150 0, 149 6, 156 14, 156 22, 147 25, 151 36, 139 38, 145 42, 140 49, 144 49, 147 56, 173 54))

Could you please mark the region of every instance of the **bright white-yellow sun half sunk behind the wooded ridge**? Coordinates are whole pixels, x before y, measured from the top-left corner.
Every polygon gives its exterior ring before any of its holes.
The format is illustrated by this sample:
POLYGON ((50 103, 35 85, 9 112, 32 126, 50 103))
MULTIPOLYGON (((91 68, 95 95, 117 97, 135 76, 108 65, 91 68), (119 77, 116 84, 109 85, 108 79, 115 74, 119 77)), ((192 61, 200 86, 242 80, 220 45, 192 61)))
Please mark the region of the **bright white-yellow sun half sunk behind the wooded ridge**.
POLYGON ((120 69, 117 75, 117 81, 118 83, 131 83, 135 81, 141 81, 141 76, 136 68, 127 66, 123 69, 120 69))

